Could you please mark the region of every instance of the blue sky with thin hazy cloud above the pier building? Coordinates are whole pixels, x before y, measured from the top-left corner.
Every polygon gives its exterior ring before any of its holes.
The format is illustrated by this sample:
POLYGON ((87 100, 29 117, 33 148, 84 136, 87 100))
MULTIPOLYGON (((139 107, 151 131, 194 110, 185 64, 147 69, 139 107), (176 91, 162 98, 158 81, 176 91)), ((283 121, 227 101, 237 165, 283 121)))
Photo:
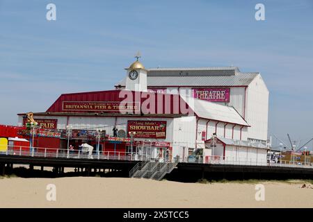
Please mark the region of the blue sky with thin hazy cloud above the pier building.
POLYGON ((269 133, 313 137, 313 1, 0 0, 0 123, 145 67, 239 67, 270 90, 269 133), (46 19, 56 4, 56 21, 46 19), (264 3, 266 20, 255 20, 264 3))

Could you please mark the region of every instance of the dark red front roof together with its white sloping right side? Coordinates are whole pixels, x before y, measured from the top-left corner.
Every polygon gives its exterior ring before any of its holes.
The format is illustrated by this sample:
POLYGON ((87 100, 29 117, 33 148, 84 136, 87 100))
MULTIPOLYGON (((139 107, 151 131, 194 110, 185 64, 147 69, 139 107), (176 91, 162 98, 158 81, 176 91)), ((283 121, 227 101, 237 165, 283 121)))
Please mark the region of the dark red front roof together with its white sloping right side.
POLYGON ((229 106, 199 99, 184 98, 178 94, 129 90, 61 94, 46 112, 37 112, 34 115, 96 115, 99 117, 123 115, 174 118, 184 115, 196 115, 203 119, 248 126, 243 117, 229 106))

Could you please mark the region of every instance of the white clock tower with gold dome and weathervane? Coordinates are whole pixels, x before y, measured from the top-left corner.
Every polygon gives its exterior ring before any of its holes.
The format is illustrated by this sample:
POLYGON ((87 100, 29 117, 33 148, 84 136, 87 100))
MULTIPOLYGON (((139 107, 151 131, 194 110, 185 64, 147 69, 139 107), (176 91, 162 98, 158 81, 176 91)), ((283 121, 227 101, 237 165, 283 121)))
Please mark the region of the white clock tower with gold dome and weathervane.
POLYGON ((138 61, 140 56, 135 56, 137 60, 126 69, 126 87, 132 91, 147 92, 147 70, 138 61))

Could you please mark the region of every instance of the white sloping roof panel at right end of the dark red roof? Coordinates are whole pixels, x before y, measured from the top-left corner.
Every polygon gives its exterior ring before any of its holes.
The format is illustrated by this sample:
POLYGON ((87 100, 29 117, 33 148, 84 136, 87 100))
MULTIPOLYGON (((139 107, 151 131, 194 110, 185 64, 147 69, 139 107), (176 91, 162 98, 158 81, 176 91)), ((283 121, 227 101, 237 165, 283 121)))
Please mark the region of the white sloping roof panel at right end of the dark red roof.
POLYGON ((194 110, 198 117, 223 121, 226 123, 235 123, 241 126, 249 126, 232 106, 211 103, 201 99, 194 99, 189 96, 182 96, 182 98, 194 110))

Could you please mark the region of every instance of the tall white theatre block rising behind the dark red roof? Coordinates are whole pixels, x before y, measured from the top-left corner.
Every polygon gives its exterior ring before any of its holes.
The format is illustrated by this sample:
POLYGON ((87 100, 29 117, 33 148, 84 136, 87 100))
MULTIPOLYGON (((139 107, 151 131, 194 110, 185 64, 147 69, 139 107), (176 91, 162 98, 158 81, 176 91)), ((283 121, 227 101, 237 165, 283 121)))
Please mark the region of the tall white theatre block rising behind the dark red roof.
MULTIPOLYGON (((115 87, 125 88, 126 80, 127 77, 115 87)), ((147 88, 154 92, 188 94, 204 101, 233 107, 250 125, 247 137, 241 139, 266 145, 268 89, 258 72, 242 73, 237 67, 147 69, 147 88)), ((216 124, 218 137, 232 138, 231 134, 224 135, 223 128, 232 129, 233 124, 223 126, 223 123, 210 121, 207 124, 207 139, 215 131, 216 124)))

